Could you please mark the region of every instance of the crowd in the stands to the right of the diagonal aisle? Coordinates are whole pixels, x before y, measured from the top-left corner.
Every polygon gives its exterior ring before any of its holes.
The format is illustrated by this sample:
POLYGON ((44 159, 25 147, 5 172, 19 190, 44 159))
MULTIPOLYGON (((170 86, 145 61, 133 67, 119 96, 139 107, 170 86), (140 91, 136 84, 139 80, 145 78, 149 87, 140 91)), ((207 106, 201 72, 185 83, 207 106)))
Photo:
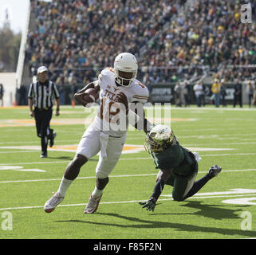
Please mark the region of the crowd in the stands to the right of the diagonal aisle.
MULTIPOLYGON (((241 6, 245 3, 242 0, 195 1, 150 45, 142 57, 142 65, 166 69, 203 65, 215 72, 223 69, 226 78, 250 77, 255 68, 236 67, 256 65, 256 4, 251 2, 253 22, 243 24, 241 6)), ((170 77, 167 73, 164 79, 170 77)))

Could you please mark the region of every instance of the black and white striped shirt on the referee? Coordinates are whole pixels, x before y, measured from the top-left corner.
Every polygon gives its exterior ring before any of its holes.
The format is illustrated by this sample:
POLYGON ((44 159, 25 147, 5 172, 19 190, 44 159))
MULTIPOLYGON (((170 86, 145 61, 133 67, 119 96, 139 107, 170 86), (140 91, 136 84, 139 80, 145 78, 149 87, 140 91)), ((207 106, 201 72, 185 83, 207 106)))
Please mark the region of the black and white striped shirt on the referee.
POLYGON ((52 108, 53 96, 55 99, 60 97, 57 86, 53 81, 47 80, 45 83, 39 81, 30 84, 28 97, 33 99, 33 105, 39 109, 52 108))

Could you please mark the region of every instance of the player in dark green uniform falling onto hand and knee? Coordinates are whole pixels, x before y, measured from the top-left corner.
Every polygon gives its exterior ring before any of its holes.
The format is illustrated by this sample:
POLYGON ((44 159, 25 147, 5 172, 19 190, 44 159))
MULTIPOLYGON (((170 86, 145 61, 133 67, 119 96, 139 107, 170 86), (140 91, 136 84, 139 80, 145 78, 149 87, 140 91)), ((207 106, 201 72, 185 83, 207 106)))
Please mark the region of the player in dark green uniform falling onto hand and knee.
POLYGON ((146 136, 145 149, 152 155, 156 168, 160 169, 151 197, 147 202, 140 202, 147 210, 154 211, 164 185, 173 186, 173 200, 183 201, 197 193, 222 170, 222 167, 215 165, 207 175, 195 181, 199 155, 182 147, 166 125, 159 124, 152 128, 146 136))

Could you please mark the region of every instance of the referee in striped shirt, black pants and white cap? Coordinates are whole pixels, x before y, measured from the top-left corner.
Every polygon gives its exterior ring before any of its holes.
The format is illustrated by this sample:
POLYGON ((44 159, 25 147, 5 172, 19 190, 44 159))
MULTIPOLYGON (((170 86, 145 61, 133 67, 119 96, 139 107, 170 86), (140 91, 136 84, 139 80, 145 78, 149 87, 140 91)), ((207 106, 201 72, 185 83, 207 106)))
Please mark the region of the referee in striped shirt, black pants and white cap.
POLYGON ((37 136, 41 138, 41 158, 47 158, 47 145, 53 146, 56 133, 49 128, 53 115, 53 97, 56 100, 56 116, 60 115, 60 95, 56 84, 48 80, 48 69, 41 66, 37 69, 38 80, 30 84, 30 116, 36 120, 37 136), (34 107, 34 108, 33 108, 34 107))

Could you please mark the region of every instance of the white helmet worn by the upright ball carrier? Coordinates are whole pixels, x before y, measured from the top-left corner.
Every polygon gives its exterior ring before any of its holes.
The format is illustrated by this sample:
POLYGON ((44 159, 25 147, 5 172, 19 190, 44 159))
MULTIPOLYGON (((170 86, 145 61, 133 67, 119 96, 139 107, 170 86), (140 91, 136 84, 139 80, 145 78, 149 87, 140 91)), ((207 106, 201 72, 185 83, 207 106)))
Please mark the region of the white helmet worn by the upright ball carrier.
POLYGON ((136 57, 131 53, 120 53, 116 56, 114 62, 116 83, 124 87, 130 87, 133 80, 136 79, 137 72, 138 63, 136 57))

